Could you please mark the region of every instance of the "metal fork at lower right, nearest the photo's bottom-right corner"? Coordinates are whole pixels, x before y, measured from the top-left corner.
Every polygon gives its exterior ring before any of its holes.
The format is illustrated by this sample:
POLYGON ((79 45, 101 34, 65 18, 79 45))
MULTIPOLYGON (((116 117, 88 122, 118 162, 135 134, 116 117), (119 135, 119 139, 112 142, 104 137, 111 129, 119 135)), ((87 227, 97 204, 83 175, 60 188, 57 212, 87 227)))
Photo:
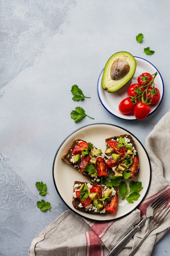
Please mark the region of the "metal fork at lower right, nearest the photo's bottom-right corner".
POLYGON ((170 206, 167 207, 167 204, 165 203, 163 205, 163 209, 158 209, 152 217, 150 217, 149 220, 149 224, 148 224, 148 229, 145 233, 145 235, 143 236, 143 238, 140 240, 140 242, 136 245, 136 247, 132 250, 132 252, 129 254, 129 256, 133 256, 135 254, 135 252, 137 252, 138 248, 140 247, 140 245, 144 242, 144 240, 146 239, 146 237, 148 236, 148 234, 150 234, 150 232, 154 229, 157 229, 157 227, 159 227, 161 225, 161 223, 163 222, 163 220, 166 218, 167 214, 170 211, 170 206))

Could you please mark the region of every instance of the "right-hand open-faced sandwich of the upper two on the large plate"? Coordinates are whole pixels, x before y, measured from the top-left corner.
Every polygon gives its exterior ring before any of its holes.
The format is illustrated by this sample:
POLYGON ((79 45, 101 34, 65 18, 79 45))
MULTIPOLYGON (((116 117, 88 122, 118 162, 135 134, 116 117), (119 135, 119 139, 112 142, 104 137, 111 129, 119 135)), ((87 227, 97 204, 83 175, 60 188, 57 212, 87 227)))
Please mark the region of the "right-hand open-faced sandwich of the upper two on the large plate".
POLYGON ((106 140, 106 163, 112 174, 123 179, 135 178, 139 172, 139 158, 131 135, 113 136, 106 140))

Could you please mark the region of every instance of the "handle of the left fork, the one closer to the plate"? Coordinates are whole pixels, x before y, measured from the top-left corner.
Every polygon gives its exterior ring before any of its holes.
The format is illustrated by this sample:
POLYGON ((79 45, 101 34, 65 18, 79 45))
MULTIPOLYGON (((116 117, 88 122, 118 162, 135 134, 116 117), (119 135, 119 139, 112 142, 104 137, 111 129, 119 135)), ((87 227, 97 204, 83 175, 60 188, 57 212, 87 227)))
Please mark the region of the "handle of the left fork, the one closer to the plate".
POLYGON ((108 256, 116 256, 121 251, 121 249, 123 249, 124 246, 128 243, 130 238, 132 238, 132 236, 137 232, 137 230, 140 229, 141 225, 144 224, 146 219, 147 217, 145 216, 143 220, 141 220, 137 225, 135 225, 134 228, 111 250, 108 256))

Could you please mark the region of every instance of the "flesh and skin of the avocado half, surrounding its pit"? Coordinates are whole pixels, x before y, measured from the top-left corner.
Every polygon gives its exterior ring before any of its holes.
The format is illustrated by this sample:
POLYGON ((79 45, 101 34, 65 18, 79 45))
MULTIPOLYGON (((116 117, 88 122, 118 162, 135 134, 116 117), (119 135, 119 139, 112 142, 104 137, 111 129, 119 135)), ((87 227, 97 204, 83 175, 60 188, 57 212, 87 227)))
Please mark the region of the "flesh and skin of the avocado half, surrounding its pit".
POLYGON ((126 85, 132 79, 132 76, 135 74, 135 71, 136 71, 136 60, 132 56, 132 54, 130 54, 129 52, 117 52, 117 53, 113 54, 108 59, 106 65, 104 67, 104 71, 103 71, 103 75, 102 75, 102 88, 106 92, 116 92, 117 90, 122 88, 124 85, 126 85), (113 80, 110 75, 110 70, 111 70, 113 63, 117 59, 125 60, 129 64, 130 70, 123 78, 121 78, 119 80, 113 80))

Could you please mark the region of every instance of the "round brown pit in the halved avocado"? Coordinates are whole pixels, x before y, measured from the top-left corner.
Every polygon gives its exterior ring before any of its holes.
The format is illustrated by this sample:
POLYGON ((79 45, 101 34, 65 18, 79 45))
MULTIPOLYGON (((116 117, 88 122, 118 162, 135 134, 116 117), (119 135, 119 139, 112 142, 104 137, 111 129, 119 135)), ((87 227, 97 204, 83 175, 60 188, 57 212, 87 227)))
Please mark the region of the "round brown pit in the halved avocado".
POLYGON ((122 79, 130 70, 130 65, 123 59, 118 58, 113 62, 110 69, 110 76, 113 80, 122 79))

